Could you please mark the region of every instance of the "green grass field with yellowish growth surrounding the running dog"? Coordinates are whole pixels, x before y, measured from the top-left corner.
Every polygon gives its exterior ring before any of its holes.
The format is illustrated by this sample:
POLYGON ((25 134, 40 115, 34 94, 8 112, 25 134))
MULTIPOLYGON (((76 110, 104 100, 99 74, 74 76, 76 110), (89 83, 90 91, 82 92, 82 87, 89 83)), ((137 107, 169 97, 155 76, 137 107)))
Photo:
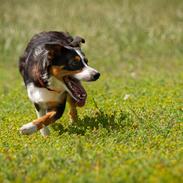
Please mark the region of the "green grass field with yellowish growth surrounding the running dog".
POLYGON ((183 182, 182 0, 0 2, 0 182, 183 182), (36 114, 17 65, 48 30, 83 36, 102 76, 45 139, 19 133, 36 114))

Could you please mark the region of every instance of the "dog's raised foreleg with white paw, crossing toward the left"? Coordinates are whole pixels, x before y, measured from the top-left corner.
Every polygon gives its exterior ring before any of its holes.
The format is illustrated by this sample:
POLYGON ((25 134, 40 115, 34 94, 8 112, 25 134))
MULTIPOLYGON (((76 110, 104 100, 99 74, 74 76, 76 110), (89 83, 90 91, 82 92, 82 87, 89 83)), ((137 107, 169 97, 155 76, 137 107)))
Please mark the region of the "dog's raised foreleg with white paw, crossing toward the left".
POLYGON ((47 127, 49 124, 54 123, 57 119, 59 119, 62 116, 64 109, 65 104, 60 104, 56 108, 49 109, 44 116, 23 125, 20 128, 20 132, 24 135, 30 135, 36 132, 37 130, 41 130, 42 128, 47 127))

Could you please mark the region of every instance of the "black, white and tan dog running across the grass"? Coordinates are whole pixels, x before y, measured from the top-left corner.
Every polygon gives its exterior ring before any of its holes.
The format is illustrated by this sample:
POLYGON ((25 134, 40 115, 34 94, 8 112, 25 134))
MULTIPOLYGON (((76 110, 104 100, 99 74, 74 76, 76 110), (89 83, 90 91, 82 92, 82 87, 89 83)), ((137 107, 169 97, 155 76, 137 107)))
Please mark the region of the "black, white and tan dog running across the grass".
POLYGON ((39 130, 48 136, 48 125, 62 116, 66 102, 70 104, 71 120, 77 121, 76 107, 84 106, 87 98, 81 81, 100 77, 88 65, 81 43, 85 43, 82 37, 57 31, 36 34, 28 43, 19 59, 19 71, 38 118, 23 125, 21 134, 39 130))

